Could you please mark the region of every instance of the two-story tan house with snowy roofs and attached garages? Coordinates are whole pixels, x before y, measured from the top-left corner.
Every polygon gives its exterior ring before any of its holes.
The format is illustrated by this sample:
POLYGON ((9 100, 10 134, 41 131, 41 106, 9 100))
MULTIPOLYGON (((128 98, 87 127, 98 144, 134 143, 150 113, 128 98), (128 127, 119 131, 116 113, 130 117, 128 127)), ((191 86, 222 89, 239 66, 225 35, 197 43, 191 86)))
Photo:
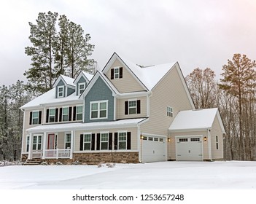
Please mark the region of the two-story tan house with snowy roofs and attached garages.
POLYGON ((223 158, 219 111, 194 110, 179 63, 142 67, 114 53, 102 71, 61 75, 21 109, 23 161, 223 158))

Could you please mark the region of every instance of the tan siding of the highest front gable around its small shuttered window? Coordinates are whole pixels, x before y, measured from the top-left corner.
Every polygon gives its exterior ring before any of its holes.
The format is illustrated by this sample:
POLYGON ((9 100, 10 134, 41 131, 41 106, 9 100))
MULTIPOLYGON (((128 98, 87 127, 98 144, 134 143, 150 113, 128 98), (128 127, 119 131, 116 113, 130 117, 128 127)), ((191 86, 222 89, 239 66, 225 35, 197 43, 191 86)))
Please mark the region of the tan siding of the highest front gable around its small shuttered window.
POLYGON ((130 93, 135 91, 145 90, 139 82, 136 80, 135 76, 133 76, 126 68, 120 63, 119 60, 115 60, 112 64, 109 71, 106 73, 106 77, 112 82, 112 84, 117 88, 120 93, 130 93), (111 69, 120 66, 123 67, 123 78, 121 79, 111 79, 111 69))

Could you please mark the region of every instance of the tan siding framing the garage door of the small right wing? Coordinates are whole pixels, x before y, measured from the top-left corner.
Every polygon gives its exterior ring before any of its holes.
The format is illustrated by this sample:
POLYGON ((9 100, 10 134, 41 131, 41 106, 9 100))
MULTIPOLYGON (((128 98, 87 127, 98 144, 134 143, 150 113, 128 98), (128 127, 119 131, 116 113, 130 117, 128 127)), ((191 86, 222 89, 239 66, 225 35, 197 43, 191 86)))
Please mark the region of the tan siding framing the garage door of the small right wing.
MULTIPOLYGON (((176 141, 175 136, 207 136, 207 131, 171 133, 171 141, 168 145, 168 160, 176 160, 176 141)), ((208 141, 203 141, 203 160, 209 160, 208 141)))

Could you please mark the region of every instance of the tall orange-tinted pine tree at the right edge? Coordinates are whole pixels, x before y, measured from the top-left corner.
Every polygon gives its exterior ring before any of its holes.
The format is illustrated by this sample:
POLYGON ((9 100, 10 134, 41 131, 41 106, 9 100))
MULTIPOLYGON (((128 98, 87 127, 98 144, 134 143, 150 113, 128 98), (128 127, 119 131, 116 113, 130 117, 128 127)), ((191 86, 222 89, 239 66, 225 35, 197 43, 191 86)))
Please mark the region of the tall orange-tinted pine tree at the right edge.
POLYGON ((238 103, 238 121, 239 121, 239 152, 241 160, 245 159, 244 143, 244 107, 247 103, 248 94, 254 95, 256 88, 256 63, 250 60, 246 55, 234 54, 232 60, 222 67, 224 71, 220 79, 220 89, 233 95, 238 103))

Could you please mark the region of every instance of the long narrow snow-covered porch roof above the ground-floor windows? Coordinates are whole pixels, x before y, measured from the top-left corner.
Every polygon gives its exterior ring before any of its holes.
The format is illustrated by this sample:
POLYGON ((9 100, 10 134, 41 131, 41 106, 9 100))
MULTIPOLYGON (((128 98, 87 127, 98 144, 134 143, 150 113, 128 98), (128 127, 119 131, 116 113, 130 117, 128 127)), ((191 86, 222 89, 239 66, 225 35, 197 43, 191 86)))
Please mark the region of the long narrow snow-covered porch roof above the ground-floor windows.
POLYGON ((26 131, 28 133, 39 133, 43 131, 70 131, 70 130, 99 130, 106 128, 115 127, 135 127, 141 122, 144 122, 147 118, 137 118, 137 119, 120 119, 111 122, 76 122, 76 123, 63 123, 54 125, 39 125, 36 127, 31 127, 26 131))

